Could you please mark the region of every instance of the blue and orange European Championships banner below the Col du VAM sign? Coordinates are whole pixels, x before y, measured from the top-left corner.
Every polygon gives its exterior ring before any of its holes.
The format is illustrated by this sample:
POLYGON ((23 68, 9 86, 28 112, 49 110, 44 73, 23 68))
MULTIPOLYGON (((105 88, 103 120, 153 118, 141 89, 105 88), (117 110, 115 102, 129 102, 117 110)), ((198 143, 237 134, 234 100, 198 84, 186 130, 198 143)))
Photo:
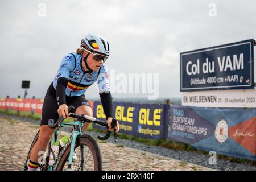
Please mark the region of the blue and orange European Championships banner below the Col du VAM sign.
POLYGON ((168 139, 199 150, 256 160, 256 109, 171 106, 168 139))

